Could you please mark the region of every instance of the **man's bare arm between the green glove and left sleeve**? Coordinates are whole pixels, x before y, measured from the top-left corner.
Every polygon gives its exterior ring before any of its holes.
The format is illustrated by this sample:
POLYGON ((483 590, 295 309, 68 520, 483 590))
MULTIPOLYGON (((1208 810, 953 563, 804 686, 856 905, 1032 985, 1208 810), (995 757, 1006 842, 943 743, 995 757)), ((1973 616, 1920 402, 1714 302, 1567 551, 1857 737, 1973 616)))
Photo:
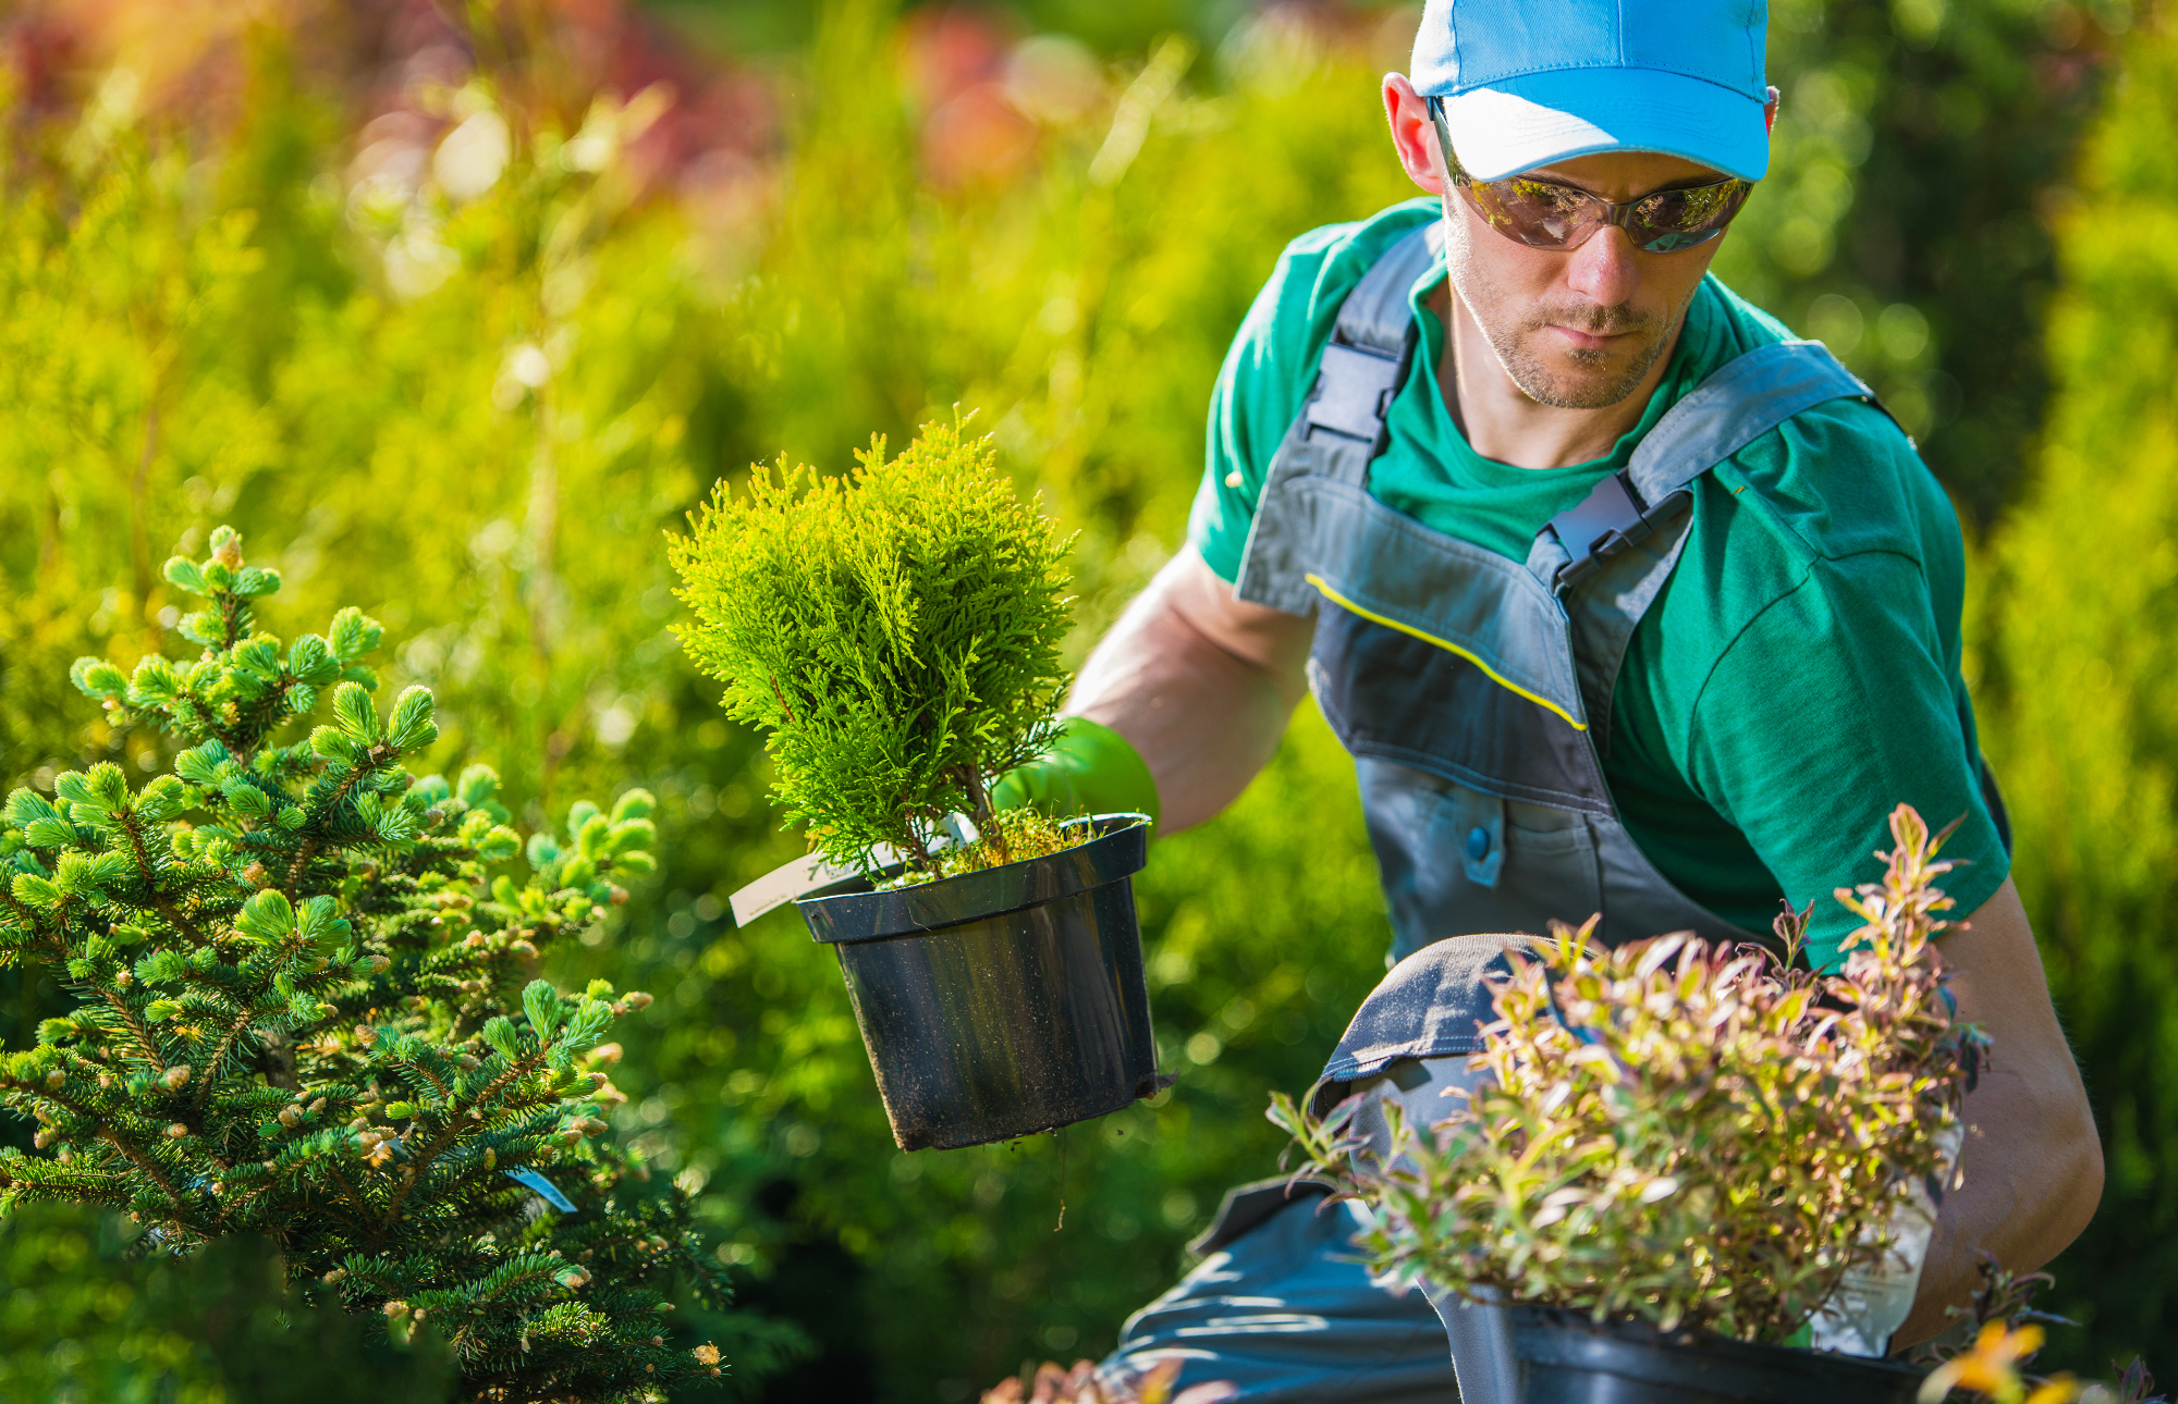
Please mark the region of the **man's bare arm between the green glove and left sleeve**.
POLYGON ((1307 692, 1311 625, 1235 599, 1185 546, 1135 596, 1074 679, 1069 716, 1124 736, 1150 764, 1159 829, 1211 818, 1255 779, 1307 692))

